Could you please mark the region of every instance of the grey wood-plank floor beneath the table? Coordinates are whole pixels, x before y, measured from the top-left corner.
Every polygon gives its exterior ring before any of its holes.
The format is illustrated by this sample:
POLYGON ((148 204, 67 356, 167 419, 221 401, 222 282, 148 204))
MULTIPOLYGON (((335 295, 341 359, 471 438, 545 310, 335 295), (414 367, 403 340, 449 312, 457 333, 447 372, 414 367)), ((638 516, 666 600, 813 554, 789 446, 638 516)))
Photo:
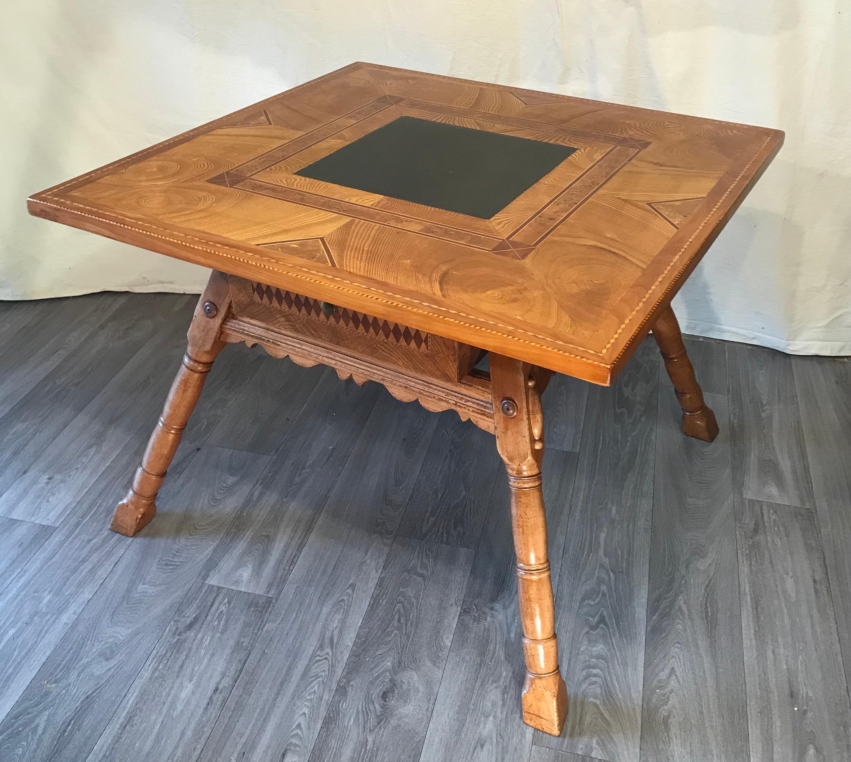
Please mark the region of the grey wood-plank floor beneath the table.
POLYGON ((196 297, 0 304, 0 760, 851 759, 851 363, 652 339, 544 395, 570 712, 520 719, 493 437, 228 347, 157 519, 107 525, 196 297))

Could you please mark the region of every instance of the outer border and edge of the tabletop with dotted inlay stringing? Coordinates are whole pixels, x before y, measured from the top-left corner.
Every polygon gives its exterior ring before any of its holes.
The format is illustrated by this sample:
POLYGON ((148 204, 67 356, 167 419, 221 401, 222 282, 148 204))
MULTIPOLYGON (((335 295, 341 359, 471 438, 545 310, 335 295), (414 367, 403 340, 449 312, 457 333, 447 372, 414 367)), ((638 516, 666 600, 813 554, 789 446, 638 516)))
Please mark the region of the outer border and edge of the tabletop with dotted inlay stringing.
MULTIPOLYGON (((408 321, 408 318, 416 316, 424 324, 437 324, 440 330, 436 330, 435 335, 449 336, 456 341, 522 357, 536 365, 550 367, 595 384, 610 384, 620 372, 631 350, 647 333, 648 325, 658 310, 670 302, 673 293, 676 293, 677 288, 700 260, 706 248, 715 240, 718 231, 722 229, 762 176, 774 156, 780 151, 784 141, 784 134, 776 129, 673 115, 691 122, 718 125, 724 128, 741 128, 749 131, 753 137, 749 145, 735 157, 727 172, 705 196, 700 208, 677 230, 677 233, 648 265, 643 276, 633 284, 630 292, 626 293, 616 305, 617 315, 612 316, 611 325, 601 329, 599 344, 595 342, 599 349, 592 349, 588 345, 571 344, 563 338, 545 333, 540 329, 529 330, 526 326, 506 324, 505 321, 471 315, 469 310, 442 304, 436 299, 416 299, 409 294, 399 293, 391 287, 391 284, 377 284, 354 274, 343 276, 342 272, 340 275, 334 275, 333 268, 311 267, 311 259, 293 256, 282 261, 266 257, 263 255, 264 244, 245 244, 199 230, 180 228, 178 225, 157 225, 154 220, 139 216, 128 217, 95 202, 81 203, 79 199, 73 197, 74 191, 79 187, 88 185, 96 179, 117 173, 123 168, 208 134, 212 130, 243 126, 247 123, 246 120, 250 121, 255 117, 260 120, 261 111, 283 97, 303 92, 335 77, 346 77, 355 71, 386 74, 390 77, 422 76, 422 72, 418 71, 357 61, 290 88, 284 93, 272 95, 225 117, 219 117, 35 193, 27 199, 27 207, 30 213, 37 217, 71 225, 80 230, 88 230, 101 236, 109 236, 133 246, 185 259, 204 267, 226 270, 246 278, 254 278, 262 272, 264 279, 277 281, 281 287, 292 287, 297 283, 300 287, 325 294, 326 298, 342 298, 353 304, 369 304, 376 312, 384 313, 388 319, 404 317, 408 321), (603 341, 605 338, 608 338, 608 341, 603 341)), ((436 75, 431 77, 450 84, 494 88, 524 104, 540 105, 552 102, 586 104, 594 108, 611 105, 573 96, 474 82, 458 77, 437 77, 436 75)), ((637 107, 630 107, 629 111, 637 117, 659 119, 671 117, 671 114, 665 111, 637 107)), ((258 121, 257 124, 266 122, 265 115, 262 119, 263 122, 258 121)), ((278 244, 283 245, 287 242, 274 243, 277 247, 278 244)), ((256 333, 257 329, 252 327, 252 331, 256 333)), ((237 340, 243 340, 243 338, 237 340)))

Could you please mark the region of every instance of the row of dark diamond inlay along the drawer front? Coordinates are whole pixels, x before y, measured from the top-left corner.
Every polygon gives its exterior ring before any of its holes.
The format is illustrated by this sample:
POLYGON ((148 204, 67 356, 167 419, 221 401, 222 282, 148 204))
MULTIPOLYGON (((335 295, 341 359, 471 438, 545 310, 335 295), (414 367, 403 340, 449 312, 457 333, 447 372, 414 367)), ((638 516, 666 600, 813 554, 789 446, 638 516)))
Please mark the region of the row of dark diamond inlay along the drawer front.
POLYGON ((267 286, 265 283, 249 282, 251 283, 254 301, 260 302, 260 304, 271 304, 279 310, 287 310, 313 320, 349 328, 367 336, 381 338, 395 344, 403 344, 420 352, 427 352, 429 349, 428 333, 420 331, 418 328, 401 326, 399 323, 381 320, 364 312, 348 310, 346 307, 336 305, 334 305, 331 313, 326 315, 319 299, 311 299, 292 291, 283 291, 280 288, 267 286))

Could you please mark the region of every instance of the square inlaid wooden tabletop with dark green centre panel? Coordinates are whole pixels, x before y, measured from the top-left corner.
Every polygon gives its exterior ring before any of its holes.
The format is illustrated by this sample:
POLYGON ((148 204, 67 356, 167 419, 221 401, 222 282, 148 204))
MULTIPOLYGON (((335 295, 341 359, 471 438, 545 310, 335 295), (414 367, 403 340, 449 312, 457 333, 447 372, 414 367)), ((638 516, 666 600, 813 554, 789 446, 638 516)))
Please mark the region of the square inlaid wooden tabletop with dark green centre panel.
POLYGON ((609 384, 782 142, 355 63, 28 204, 609 384))

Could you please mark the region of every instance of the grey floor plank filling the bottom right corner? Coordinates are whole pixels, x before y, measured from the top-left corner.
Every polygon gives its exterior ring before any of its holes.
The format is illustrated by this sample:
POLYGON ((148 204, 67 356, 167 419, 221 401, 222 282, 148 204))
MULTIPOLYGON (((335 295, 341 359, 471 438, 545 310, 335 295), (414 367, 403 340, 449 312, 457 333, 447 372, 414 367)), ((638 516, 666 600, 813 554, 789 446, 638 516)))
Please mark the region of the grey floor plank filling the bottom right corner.
POLYGON ((815 512, 748 499, 737 509, 751 760, 848 759, 851 705, 815 512))

